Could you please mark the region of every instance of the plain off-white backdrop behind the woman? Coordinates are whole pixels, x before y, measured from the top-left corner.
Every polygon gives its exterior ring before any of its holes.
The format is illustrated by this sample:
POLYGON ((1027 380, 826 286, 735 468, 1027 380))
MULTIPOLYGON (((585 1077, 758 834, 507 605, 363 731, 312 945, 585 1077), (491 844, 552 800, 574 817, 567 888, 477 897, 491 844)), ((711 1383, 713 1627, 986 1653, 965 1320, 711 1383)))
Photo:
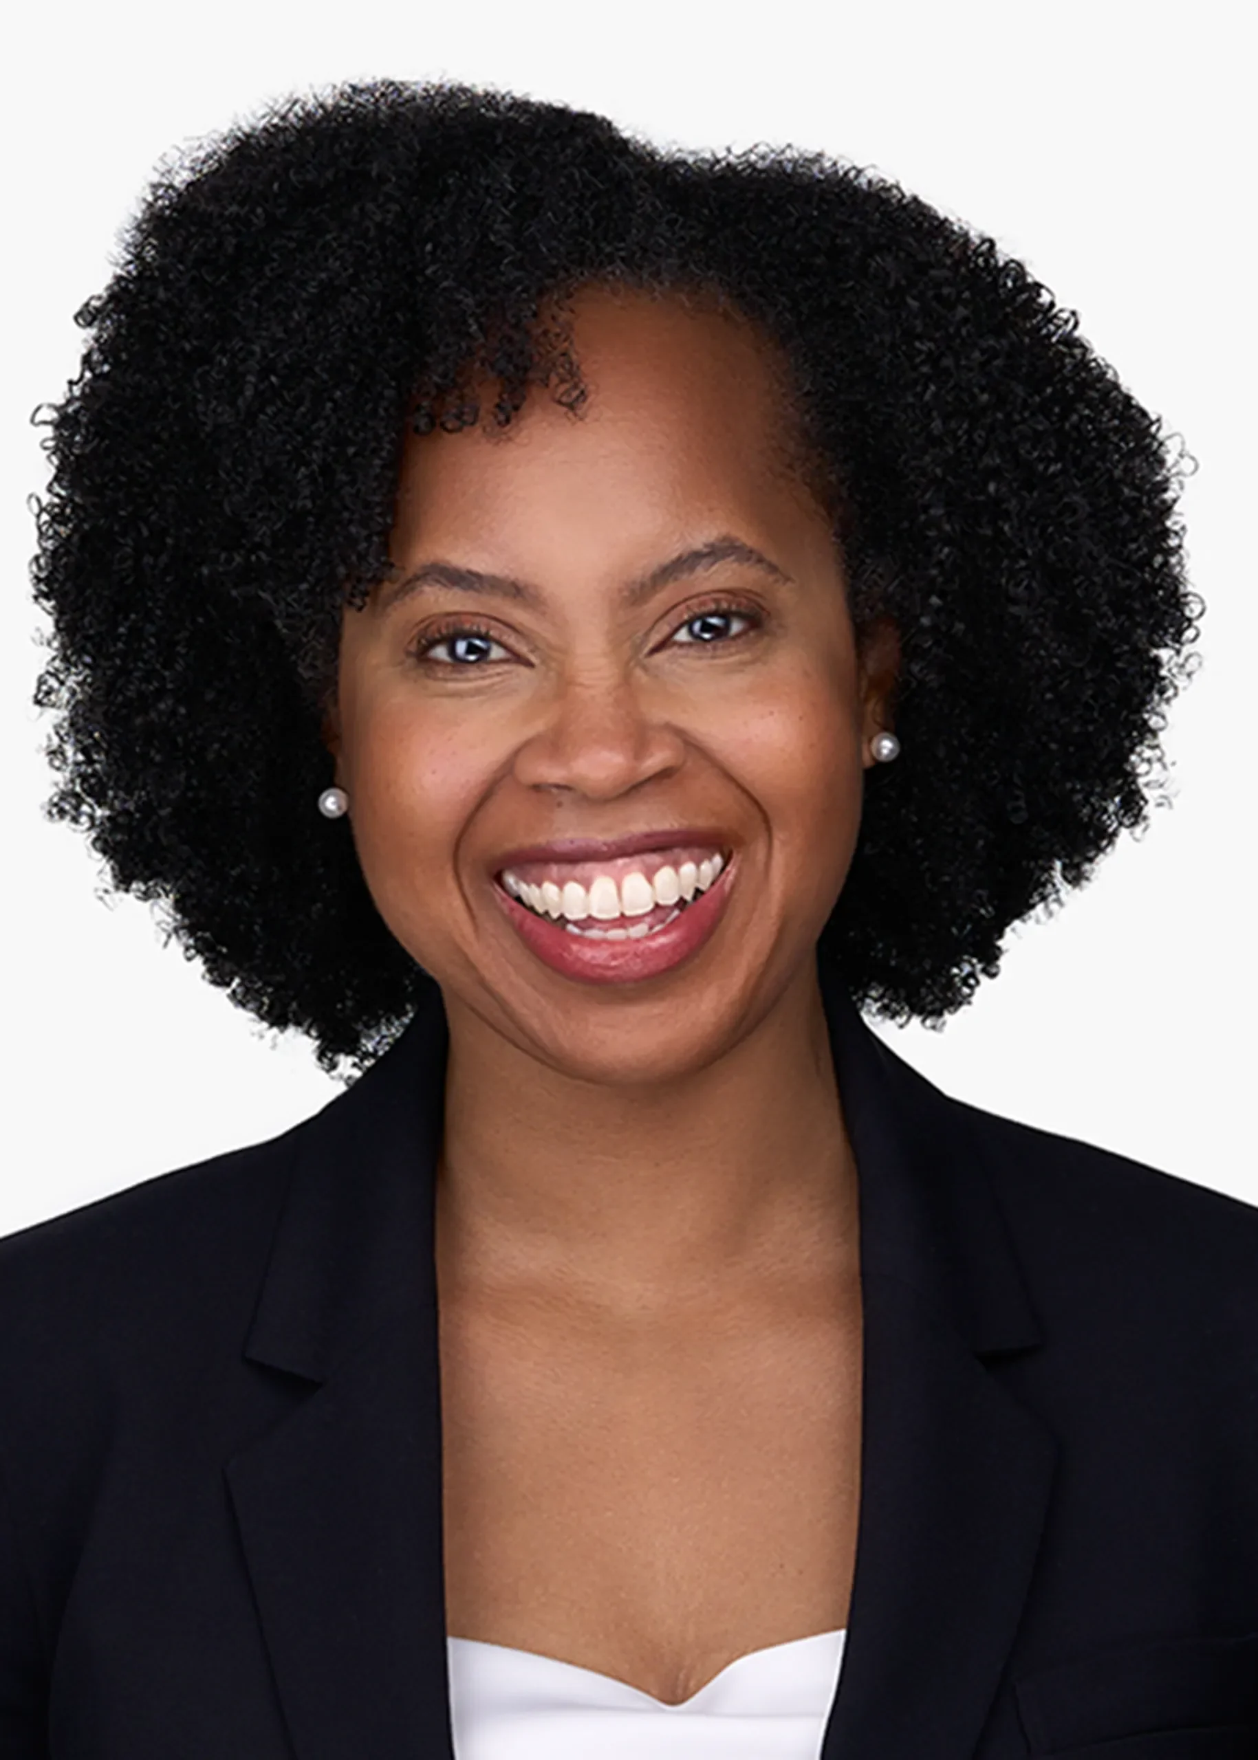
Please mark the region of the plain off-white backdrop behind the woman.
POLYGON ((1166 736, 1173 803, 943 1031, 883 1028, 950 1093, 1258 1202, 1253 1148, 1253 134, 1246 9, 696 0, 81 0, 7 26, 4 106, 4 1170, 0 1232, 284 1130, 338 1089, 107 905, 48 824, 30 706, 30 412, 159 160, 289 92, 455 77, 655 141, 821 148, 1024 257, 1196 461, 1209 612, 1166 736))

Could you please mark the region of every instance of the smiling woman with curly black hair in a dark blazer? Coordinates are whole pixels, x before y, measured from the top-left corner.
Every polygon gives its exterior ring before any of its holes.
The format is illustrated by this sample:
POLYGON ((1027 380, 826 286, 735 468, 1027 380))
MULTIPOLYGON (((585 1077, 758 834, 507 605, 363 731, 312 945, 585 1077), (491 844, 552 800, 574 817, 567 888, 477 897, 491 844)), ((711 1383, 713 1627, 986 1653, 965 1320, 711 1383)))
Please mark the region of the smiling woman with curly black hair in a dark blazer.
POLYGON ((1195 605, 1071 319, 819 158, 370 86, 85 322, 56 811, 365 1074, 0 1250, 4 1753, 1254 1755, 1254 1213, 858 1014, 1145 813, 1195 605))

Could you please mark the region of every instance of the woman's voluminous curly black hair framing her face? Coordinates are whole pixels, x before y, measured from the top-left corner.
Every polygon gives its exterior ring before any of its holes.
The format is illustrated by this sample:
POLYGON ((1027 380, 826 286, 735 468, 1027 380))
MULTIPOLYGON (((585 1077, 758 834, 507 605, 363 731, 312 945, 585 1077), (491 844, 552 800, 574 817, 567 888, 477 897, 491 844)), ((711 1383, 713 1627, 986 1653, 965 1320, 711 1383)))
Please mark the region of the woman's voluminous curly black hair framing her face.
POLYGON ((456 84, 285 102, 159 178, 79 313, 37 700, 49 813, 328 1068, 432 984, 314 810, 342 607, 388 572, 407 422, 580 408, 546 313, 587 283, 707 290, 773 340, 856 627, 900 630, 904 755, 821 938, 862 1003, 941 1021, 1161 787, 1200 612, 1173 447, 990 239, 816 153, 666 153, 456 84))

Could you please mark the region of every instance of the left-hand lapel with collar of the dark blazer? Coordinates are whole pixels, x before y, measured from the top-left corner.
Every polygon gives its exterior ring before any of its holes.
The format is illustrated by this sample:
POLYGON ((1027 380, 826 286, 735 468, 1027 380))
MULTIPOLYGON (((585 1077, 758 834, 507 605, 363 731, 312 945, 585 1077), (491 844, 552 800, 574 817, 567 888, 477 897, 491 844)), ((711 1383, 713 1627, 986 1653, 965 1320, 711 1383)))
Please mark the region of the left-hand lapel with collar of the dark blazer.
POLYGON ((298 1760, 449 1760, 432 1199, 433 993, 298 1163, 245 1355, 296 1410, 227 1466, 298 1760))

